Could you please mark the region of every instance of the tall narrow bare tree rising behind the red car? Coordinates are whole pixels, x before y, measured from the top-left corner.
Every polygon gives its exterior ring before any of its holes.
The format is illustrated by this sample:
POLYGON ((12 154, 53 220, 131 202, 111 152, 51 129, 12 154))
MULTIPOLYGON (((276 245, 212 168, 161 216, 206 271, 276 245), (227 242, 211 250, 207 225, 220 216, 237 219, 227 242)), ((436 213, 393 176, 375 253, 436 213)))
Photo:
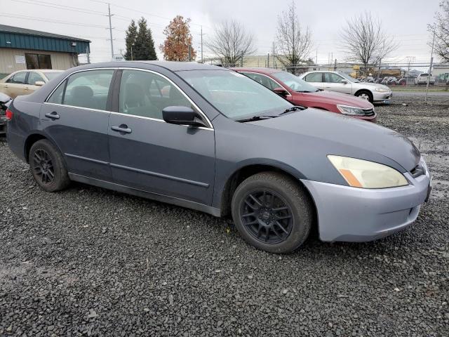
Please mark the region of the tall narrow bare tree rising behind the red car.
POLYGON ((311 51, 311 32, 303 28, 297 16, 295 2, 278 16, 276 32, 276 59, 281 65, 295 72, 295 67, 306 62, 311 51))

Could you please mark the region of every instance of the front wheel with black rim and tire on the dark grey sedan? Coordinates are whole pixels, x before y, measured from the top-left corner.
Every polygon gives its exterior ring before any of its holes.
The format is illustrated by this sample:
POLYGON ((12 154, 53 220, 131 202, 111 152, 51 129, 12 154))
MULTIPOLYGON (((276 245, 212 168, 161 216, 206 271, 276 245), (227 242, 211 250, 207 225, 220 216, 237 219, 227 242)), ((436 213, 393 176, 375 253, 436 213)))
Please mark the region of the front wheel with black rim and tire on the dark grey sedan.
POLYGON ((281 173, 250 176, 232 196, 232 218, 241 236, 270 253, 299 248, 309 237, 313 214, 314 206, 303 187, 281 173))

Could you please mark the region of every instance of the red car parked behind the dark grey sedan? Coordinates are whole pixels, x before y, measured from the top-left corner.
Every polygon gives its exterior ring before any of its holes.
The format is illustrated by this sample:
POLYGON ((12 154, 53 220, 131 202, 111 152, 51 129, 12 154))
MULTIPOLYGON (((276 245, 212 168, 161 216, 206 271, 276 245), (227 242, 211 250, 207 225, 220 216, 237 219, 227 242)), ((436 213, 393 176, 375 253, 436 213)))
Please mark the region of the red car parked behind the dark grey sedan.
POLYGON ((232 68, 232 70, 250 77, 279 95, 283 95, 286 100, 295 105, 328 110, 366 121, 376 120, 374 106, 368 100, 344 93, 317 89, 290 72, 269 68, 232 68))

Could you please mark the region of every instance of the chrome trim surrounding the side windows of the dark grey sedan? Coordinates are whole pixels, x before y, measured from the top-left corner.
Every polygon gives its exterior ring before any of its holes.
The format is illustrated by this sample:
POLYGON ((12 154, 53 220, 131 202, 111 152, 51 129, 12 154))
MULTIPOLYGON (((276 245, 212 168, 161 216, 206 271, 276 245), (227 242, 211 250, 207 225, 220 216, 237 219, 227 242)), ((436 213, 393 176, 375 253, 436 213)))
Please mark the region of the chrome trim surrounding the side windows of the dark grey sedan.
MULTIPOLYGON (((51 93, 49 93, 46 97, 46 99, 43 101, 44 104, 52 104, 52 105, 59 105, 62 107, 75 107, 73 105, 64 105, 64 104, 58 104, 58 103, 48 103, 48 99, 50 99, 51 95, 53 95, 53 93, 59 88, 59 86, 70 76, 72 76, 73 74, 79 73, 79 72, 89 72, 89 71, 93 71, 93 70, 135 70, 135 71, 140 71, 140 72, 151 72, 152 74, 156 74, 160 77, 163 77, 163 79, 166 79, 167 81, 170 82, 170 84, 173 84, 173 86, 175 86, 175 88, 177 88, 177 90, 180 91, 180 93, 182 93, 182 95, 185 96, 185 98, 187 98, 187 100, 189 100, 189 102, 195 107, 196 110, 198 110, 198 112, 201 114, 201 116, 206 120, 207 124, 209 124, 208 127, 198 127, 198 128, 202 128, 202 129, 206 129, 206 130, 213 130, 213 124, 210 122, 210 119, 206 116, 206 114, 198 107, 198 105, 196 105, 196 103, 194 103, 194 101, 189 98, 189 96, 179 87, 177 86, 177 84, 175 84, 175 82, 173 82, 171 79, 169 79, 168 77, 166 77, 164 74, 161 74, 160 72, 155 72, 154 70, 148 70, 148 69, 142 69, 142 68, 130 68, 130 67, 105 67, 105 68, 89 68, 89 69, 83 69, 83 70, 77 70, 76 72, 71 72, 70 74, 68 74, 66 77, 64 77, 64 79, 62 79, 60 81, 60 83, 55 86, 55 88, 53 88, 53 90, 51 91, 51 93)), ((107 111, 107 110, 98 110, 98 109, 91 109, 88 107, 75 107, 75 108, 79 108, 79 109, 84 109, 84 110, 92 110, 92 111, 100 111, 100 112, 107 112, 107 113, 112 113, 112 114, 121 114, 121 115, 125 115, 125 116, 133 116, 133 117, 138 117, 138 118, 142 118, 142 119, 150 119, 153 121, 162 121, 163 123, 166 123, 166 121, 164 121, 163 119, 155 119, 155 118, 150 118, 150 117, 142 117, 142 116, 134 116, 131 114, 123 114, 120 112, 114 112, 114 111, 107 111)))

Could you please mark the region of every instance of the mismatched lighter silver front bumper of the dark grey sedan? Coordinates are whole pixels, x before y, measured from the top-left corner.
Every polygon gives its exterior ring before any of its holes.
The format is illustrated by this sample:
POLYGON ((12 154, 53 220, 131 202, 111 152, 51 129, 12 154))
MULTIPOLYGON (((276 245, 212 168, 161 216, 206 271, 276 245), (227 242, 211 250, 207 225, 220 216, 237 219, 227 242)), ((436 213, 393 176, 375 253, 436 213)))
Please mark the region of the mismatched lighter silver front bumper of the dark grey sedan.
POLYGON ((301 180, 316 204, 320 239, 367 242, 408 227, 427 200, 431 180, 427 167, 425 175, 404 176, 410 185, 377 190, 301 180))

